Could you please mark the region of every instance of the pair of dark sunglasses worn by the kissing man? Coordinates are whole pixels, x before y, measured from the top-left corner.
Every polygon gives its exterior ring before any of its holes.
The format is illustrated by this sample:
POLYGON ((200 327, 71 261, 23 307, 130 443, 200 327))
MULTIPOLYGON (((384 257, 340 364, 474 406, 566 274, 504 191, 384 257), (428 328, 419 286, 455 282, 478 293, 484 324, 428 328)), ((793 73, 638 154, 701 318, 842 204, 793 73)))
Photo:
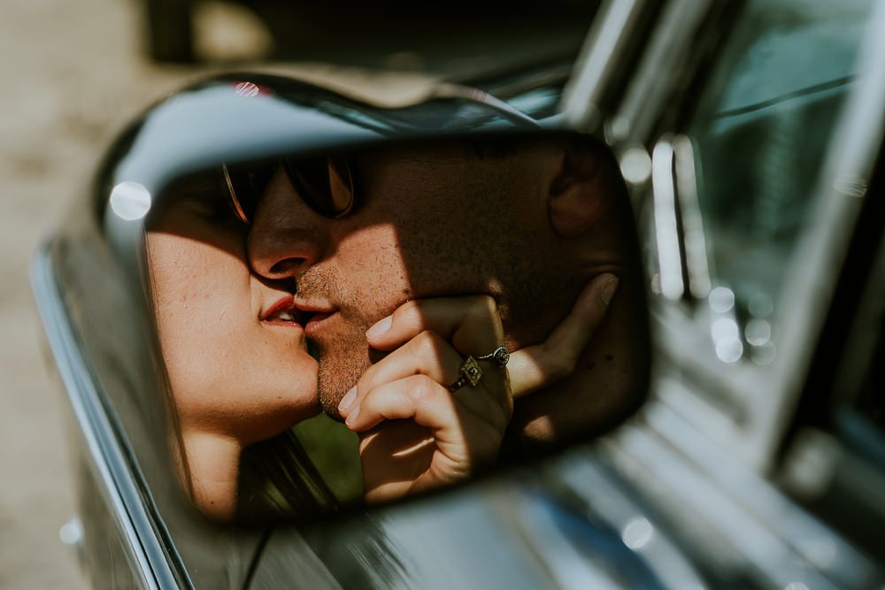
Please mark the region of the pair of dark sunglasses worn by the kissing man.
POLYGON ((347 215, 356 203, 353 172, 347 156, 288 158, 251 165, 221 165, 221 176, 236 217, 251 225, 273 174, 282 167, 289 182, 312 210, 330 218, 347 215))

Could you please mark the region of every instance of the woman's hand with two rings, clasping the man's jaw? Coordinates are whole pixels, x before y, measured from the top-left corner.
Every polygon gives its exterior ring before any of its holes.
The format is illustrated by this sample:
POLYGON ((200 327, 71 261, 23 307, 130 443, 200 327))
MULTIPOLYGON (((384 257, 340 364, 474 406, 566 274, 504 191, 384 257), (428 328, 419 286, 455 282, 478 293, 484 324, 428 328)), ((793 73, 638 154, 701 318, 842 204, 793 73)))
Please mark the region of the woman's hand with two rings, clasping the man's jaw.
POLYGON ((513 352, 506 368, 480 361, 476 387, 452 392, 467 355, 489 354, 504 342, 489 296, 404 303, 370 328, 369 344, 392 352, 339 406, 360 437, 366 502, 448 485, 494 464, 513 399, 573 372, 615 287, 613 275, 596 277, 546 341, 513 352))

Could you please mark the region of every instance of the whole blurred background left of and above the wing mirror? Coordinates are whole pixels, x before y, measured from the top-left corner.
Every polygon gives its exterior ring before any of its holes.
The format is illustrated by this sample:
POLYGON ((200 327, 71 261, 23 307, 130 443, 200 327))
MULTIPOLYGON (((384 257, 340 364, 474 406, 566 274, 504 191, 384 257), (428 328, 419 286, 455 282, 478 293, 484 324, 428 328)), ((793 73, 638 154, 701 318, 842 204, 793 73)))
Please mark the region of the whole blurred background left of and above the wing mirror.
MULTIPOLYGON (((454 75, 573 55, 583 2, 6 0, 0 17, 0 588, 87 587, 59 531, 73 517, 65 396, 44 349, 30 258, 102 150, 187 80, 259 61, 454 75), (322 4, 317 8, 316 4, 322 4), (352 5, 349 5, 352 4, 352 5), (551 9, 551 4, 556 9, 551 9), (327 12, 329 8, 334 12, 327 12), (543 19, 541 26, 539 19, 543 19)), ((67 529, 67 533, 71 530, 67 529)))

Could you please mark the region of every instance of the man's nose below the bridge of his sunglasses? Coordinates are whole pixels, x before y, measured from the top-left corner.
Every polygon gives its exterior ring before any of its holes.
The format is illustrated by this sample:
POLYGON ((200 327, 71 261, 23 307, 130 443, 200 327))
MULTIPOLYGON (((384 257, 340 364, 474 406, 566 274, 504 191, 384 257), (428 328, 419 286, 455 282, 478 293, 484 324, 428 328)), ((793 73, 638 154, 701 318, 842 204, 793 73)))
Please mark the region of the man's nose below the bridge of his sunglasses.
POLYGON ((322 257, 322 218, 278 171, 258 202, 247 250, 252 269, 267 279, 289 279, 322 257))

